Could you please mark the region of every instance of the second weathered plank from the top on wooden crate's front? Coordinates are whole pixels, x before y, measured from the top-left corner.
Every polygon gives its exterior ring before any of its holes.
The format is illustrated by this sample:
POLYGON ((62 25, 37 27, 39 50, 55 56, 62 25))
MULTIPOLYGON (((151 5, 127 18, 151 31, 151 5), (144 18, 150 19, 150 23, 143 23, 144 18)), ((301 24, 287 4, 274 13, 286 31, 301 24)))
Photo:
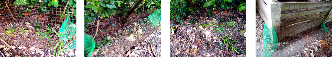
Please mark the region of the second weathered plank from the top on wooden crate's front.
POLYGON ((308 11, 297 11, 297 12, 293 12, 293 13, 281 14, 280 18, 281 18, 281 20, 284 20, 284 19, 304 16, 304 15, 308 15, 308 14, 330 11, 330 9, 331 9, 331 7, 315 9, 315 10, 308 10, 308 11))

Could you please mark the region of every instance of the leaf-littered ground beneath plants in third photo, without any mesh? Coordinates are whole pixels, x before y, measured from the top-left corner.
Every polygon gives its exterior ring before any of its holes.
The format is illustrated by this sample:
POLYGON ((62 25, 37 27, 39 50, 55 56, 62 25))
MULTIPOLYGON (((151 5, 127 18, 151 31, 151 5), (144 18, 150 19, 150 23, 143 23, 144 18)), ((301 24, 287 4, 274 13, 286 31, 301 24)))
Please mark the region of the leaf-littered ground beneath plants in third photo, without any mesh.
POLYGON ((179 24, 175 19, 170 20, 170 27, 175 29, 174 34, 170 30, 170 56, 246 56, 246 37, 240 33, 245 31, 245 11, 230 10, 227 15, 223 14, 225 12, 219 11, 211 16, 195 13, 197 12, 192 12, 192 15, 187 16, 188 19, 186 19, 187 17, 183 19, 183 24, 179 24), (237 25, 227 27, 228 17, 237 25), (221 26, 225 28, 225 31, 213 33, 212 30, 217 28, 215 25, 203 26, 206 31, 199 27, 203 24, 213 23, 225 25, 221 26), (233 37, 229 41, 236 41, 230 44, 237 46, 235 49, 238 53, 228 50, 226 45, 221 45, 221 41, 217 38, 224 39, 230 35, 233 37))

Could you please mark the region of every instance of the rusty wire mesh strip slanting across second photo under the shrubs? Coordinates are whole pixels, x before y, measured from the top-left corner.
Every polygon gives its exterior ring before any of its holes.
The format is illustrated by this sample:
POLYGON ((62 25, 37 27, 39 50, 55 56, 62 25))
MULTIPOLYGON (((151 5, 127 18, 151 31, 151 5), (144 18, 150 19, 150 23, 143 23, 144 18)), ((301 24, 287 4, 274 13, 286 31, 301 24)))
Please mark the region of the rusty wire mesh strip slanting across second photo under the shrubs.
MULTIPOLYGON (((160 8, 160 7, 159 7, 160 8)), ((107 30, 106 33, 108 34, 114 34, 114 33, 109 33, 109 32, 114 32, 118 31, 119 29, 123 29, 123 26, 131 24, 133 21, 137 21, 137 19, 142 19, 150 14, 152 14, 155 10, 159 8, 154 8, 154 9, 149 9, 140 12, 139 14, 131 14, 131 15, 126 15, 126 16, 121 16, 121 17, 110 17, 109 19, 101 20, 99 25, 99 29, 101 30, 107 30), (125 17, 128 17, 128 19, 125 19, 125 17), (109 24, 102 24, 102 23, 109 23, 109 24)), ((95 30, 96 30, 96 25, 97 21, 95 22, 90 22, 90 23, 85 23, 85 28, 88 30, 88 32, 85 32, 88 35, 94 35, 95 30)))

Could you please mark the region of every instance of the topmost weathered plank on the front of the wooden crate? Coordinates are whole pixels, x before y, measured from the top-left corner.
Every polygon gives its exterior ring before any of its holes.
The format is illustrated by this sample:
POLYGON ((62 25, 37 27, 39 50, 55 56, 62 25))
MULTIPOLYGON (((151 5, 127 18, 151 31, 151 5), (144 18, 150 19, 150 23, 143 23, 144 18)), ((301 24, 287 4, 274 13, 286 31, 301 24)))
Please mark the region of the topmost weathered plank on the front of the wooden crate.
POLYGON ((302 2, 290 2, 290 3, 282 3, 285 5, 282 11, 286 10, 294 10, 294 9, 304 9, 304 8, 314 8, 314 7, 322 7, 322 6, 332 6, 332 2, 318 2, 318 3, 302 3, 302 2), (287 4, 289 7, 287 8, 287 4))

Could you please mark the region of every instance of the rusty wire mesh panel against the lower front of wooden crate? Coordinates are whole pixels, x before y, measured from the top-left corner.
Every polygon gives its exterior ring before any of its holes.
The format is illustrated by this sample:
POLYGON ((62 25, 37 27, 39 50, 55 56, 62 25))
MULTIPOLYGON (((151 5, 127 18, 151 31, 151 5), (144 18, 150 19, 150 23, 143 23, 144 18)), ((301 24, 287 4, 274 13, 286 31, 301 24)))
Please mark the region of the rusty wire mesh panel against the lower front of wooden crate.
POLYGON ((281 21, 281 26, 276 29, 279 30, 277 32, 278 38, 283 40, 291 40, 300 36, 297 34, 305 34, 311 32, 312 30, 317 30, 324 20, 324 17, 325 15, 319 17, 297 18, 281 21))

